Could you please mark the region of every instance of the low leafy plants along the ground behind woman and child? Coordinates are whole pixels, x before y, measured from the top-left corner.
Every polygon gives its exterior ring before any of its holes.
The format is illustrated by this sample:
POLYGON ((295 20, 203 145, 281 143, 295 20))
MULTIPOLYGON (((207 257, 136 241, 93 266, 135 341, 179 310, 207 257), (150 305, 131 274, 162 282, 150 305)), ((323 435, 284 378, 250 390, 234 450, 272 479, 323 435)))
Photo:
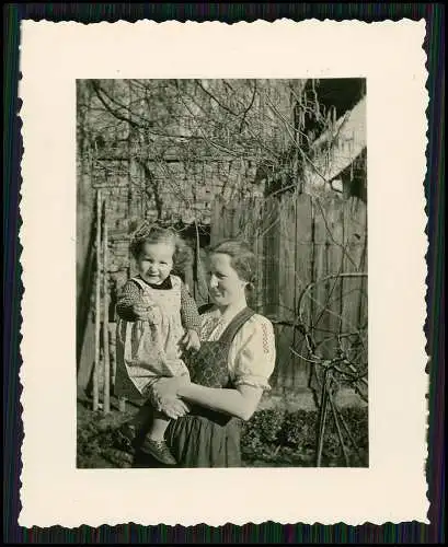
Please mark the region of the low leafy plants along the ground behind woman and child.
MULTIPOLYGON (((366 408, 341 410, 355 450, 347 439, 349 465, 368 465, 368 414, 366 408)), ((93 414, 92 414, 93 416, 93 414)), ((245 466, 253 467, 313 467, 315 465, 317 426, 319 414, 310 410, 286 411, 264 409, 254 414, 243 424, 241 451, 245 466)), ((79 468, 128 467, 131 454, 117 441, 116 426, 107 424, 93 416, 78 424, 79 468)), ((344 454, 331 411, 325 427, 322 452, 323 467, 345 467, 344 454)))

